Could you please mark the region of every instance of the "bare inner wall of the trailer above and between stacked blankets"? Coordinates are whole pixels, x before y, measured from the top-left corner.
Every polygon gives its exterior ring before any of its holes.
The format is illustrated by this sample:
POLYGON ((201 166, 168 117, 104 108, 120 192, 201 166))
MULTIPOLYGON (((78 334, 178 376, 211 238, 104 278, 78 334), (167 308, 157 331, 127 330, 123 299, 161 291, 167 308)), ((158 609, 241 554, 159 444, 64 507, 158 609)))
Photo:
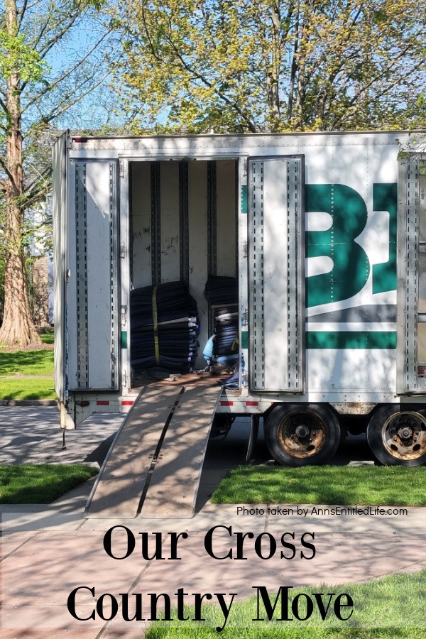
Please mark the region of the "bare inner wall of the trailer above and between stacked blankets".
POLYGON ((237 169, 236 160, 129 163, 131 288, 187 284, 200 317, 196 368, 214 329, 209 275, 239 278, 237 169))

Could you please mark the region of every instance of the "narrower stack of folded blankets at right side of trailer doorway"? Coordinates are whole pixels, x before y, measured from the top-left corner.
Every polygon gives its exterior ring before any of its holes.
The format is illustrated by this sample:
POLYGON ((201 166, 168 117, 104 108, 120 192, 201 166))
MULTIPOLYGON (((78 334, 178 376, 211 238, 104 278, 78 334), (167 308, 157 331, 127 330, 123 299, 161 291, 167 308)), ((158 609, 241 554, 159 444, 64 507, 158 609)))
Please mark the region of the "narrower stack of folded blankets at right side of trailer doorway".
POLYGON ((214 360, 238 362, 238 284, 235 278, 209 275, 204 297, 214 308, 214 360))

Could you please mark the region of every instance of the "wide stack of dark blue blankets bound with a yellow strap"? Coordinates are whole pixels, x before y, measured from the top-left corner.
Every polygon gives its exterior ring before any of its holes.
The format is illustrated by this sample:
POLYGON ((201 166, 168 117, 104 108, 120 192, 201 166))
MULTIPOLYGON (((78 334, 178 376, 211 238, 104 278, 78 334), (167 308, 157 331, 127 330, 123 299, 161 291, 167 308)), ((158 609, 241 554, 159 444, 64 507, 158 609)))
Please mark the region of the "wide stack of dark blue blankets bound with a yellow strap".
POLYGON ((183 282, 131 291, 131 366, 192 371, 200 332, 197 304, 183 282))

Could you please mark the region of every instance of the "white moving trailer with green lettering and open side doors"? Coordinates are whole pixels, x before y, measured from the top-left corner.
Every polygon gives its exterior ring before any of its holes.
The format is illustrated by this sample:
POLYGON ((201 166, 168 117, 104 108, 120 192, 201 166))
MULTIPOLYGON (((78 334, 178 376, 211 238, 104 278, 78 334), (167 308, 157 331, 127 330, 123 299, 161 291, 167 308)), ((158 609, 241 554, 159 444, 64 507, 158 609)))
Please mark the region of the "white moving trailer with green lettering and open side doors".
POLYGON ((187 283, 203 368, 203 291, 224 275, 239 288, 239 382, 209 408, 217 421, 263 416, 273 457, 302 465, 366 415, 379 461, 425 464, 426 132, 65 133, 54 234, 62 427, 134 408, 133 288, 187 283))

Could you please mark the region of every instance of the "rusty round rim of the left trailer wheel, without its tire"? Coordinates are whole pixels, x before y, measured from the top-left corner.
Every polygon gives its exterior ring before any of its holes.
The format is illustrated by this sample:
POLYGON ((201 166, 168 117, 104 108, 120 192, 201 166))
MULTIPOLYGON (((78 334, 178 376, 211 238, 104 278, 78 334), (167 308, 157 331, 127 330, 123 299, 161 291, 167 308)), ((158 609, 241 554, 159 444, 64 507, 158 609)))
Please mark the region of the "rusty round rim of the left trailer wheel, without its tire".
POLYGON ((317 415, 298 411, 284 417, 278 429, 278 439, 291 457, 313 457, 324 446, 325 424, 317 415))

